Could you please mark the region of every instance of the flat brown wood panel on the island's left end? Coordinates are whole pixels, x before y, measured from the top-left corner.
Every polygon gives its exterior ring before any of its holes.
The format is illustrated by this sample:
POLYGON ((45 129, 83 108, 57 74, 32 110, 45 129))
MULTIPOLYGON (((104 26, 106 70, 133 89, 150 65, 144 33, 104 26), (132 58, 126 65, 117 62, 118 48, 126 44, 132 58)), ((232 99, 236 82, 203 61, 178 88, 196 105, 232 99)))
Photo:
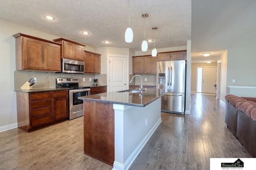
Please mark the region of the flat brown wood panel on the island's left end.
POLYGON ((84 100, 84 154, 113 165, 113 104, 84 100))

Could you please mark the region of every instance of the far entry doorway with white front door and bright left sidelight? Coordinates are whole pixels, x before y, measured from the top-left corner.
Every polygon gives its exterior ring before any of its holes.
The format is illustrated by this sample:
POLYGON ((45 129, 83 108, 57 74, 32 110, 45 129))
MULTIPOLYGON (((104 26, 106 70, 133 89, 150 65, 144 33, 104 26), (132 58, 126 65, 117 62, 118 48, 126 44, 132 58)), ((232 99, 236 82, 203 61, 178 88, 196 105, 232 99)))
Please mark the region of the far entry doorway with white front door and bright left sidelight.
POLYGON ((216 93, 217 67, 197 67, 196 92, 216 93))

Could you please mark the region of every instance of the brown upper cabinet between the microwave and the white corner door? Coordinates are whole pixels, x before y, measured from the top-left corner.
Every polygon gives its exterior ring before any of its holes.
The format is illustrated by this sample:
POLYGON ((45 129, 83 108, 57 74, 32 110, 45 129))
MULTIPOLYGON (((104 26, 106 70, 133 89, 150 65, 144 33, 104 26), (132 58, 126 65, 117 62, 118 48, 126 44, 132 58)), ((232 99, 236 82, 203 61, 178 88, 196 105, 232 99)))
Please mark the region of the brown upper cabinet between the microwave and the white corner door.
POLYGON ((100 73, 100 56, 101 54, 84 51, 85 73, 100 73))

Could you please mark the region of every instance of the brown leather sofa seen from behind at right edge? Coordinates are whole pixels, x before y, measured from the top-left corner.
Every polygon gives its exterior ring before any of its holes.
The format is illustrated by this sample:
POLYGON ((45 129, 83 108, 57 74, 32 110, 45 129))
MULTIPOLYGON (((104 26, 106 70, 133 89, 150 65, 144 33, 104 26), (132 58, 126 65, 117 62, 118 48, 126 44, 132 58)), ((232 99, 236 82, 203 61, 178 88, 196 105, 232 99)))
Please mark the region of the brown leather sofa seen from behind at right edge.
POLYGON ((256 98, 225 96, 225 123, 230 131, 256 157, 256 98))

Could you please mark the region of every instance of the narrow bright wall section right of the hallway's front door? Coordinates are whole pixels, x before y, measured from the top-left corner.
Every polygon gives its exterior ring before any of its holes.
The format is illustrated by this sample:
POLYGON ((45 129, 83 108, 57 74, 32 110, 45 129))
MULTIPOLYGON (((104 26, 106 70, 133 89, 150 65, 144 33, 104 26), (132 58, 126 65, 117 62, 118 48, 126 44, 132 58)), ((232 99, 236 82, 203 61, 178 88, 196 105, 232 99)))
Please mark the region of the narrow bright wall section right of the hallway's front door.
POLYGON ((227 87, 228 50, 222 53, 222 55, 218 58, 218 62, 221 62, 220 100, 225 102, 227 87))

